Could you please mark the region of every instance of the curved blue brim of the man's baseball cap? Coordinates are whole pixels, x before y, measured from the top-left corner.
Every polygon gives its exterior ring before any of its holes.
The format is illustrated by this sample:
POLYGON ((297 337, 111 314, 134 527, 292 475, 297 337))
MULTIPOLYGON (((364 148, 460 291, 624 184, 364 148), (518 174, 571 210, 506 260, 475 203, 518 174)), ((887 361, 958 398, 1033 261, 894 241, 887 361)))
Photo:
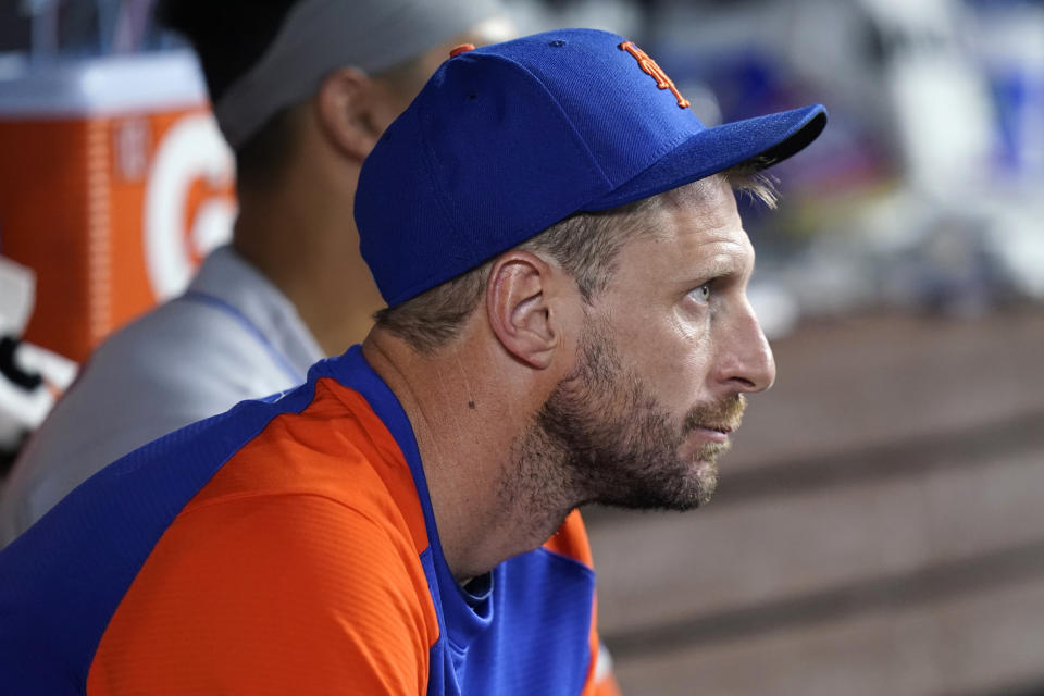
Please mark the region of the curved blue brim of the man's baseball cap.
POLYGON ((771 166, 803 150, 825 126, 826 110, 822 104, 812 104, 700 130, 583 209, 596 211, 625 206, 754 158, 761 158, 765 166, 771 166))

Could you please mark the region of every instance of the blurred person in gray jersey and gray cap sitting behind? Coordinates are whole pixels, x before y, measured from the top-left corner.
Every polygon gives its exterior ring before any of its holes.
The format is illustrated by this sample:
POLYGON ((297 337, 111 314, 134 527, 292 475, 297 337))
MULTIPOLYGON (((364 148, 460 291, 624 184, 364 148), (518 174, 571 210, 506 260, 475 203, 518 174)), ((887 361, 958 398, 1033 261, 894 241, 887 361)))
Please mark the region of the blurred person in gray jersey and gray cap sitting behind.
POLYGON ((383 303, 351 206, 362 161, 463 42, 512 34, 494 0, 173 0, 235 152, 233 240, 188 290, 102 344, 0 490, 0 547, 133 449, 304 380, 383 303))

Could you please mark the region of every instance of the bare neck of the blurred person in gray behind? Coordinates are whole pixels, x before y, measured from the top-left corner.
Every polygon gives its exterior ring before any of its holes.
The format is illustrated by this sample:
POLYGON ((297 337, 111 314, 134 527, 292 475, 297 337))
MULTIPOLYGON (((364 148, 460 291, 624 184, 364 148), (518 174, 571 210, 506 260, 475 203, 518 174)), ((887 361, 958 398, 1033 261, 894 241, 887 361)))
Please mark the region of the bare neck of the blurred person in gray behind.
POLYGON ((286 188, 240 194, 233 246, 294 303, 323 352, 338 355, 382 306, 350 222, 352 191, 286 188))

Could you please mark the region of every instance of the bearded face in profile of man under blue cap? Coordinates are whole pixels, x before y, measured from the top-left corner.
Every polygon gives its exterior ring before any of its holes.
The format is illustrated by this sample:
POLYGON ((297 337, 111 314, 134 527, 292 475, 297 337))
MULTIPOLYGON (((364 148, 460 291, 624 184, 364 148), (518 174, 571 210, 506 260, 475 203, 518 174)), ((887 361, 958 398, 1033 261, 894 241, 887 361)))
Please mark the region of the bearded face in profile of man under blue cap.
POLYGON ((591 500, 689 509, 718 481, 744 394, 775 377, 746 297, 754 249, 721 178, 673 194, 621 249, 577 366, 538 415, 591 500))

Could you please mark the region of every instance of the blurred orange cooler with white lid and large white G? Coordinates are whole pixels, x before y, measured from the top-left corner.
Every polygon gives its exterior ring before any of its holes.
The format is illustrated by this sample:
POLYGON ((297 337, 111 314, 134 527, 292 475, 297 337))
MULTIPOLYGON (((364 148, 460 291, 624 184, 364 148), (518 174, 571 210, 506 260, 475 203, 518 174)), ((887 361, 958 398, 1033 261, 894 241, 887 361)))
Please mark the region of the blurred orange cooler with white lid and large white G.
POLYGON ((79 361, 228 238, 233 157, 188 51, 8 73, 0 253, 36 272, 25 338, 79 361))

